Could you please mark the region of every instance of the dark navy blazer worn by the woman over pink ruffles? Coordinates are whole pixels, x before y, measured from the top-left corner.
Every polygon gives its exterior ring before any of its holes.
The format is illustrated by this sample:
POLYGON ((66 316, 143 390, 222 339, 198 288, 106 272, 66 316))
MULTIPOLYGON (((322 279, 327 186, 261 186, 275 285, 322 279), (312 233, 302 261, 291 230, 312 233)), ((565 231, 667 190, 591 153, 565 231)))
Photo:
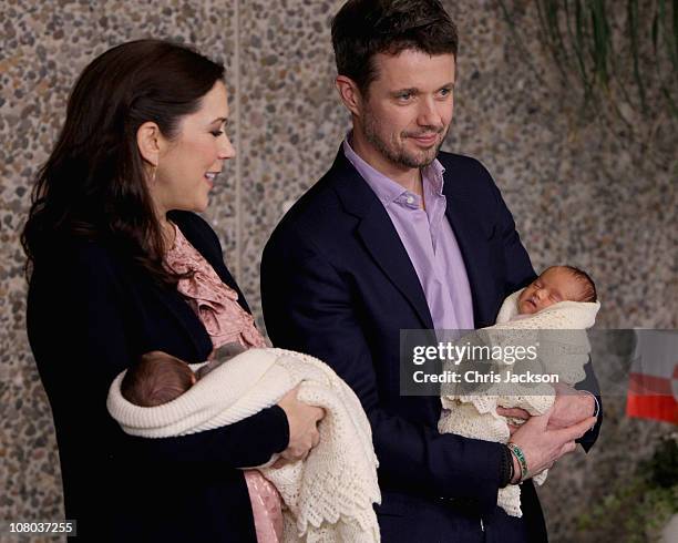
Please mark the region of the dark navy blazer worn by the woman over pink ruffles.
MULTIPOLYGON (((215 233, 197 215, 172 219, 222 280, 243 294, 215 233)), ((65 513, 83 541, 256 541, 239 467, 287 447, 279 407, 181 438, 133 438, 106 411, 113 378, 140 355, 205 360, 212 341, 176 290, 100 244, 70 240, 35 263, 28 334, 54 417, 65 513)))

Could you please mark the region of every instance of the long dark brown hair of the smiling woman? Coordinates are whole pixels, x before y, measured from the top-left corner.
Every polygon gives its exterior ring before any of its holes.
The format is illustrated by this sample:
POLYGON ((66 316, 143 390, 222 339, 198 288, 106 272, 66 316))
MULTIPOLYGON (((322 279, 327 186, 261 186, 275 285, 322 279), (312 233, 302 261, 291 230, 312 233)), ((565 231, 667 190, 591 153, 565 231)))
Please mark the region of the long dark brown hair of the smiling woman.
POLYGON ((155 122, 172 140, 184 115, 224 76, 224 66, 161 40, 123 43, 92 61, 73 88, 66 119, 38 173, 21 235, 27 275, 59 238, 106 239, 164 286, 164 243, 136 144, 155 122))

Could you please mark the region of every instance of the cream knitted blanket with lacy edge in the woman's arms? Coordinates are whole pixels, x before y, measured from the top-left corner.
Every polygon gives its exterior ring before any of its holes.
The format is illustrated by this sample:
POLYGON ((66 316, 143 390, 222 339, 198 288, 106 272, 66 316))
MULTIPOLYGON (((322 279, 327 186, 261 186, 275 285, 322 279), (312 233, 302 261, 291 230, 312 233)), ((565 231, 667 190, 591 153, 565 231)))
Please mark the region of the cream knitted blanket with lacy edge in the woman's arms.
MULTIPOLYGON (((196 369, 202 365, 193 365, 196 369)), ((177 399, 146 408, 111 385, 107 408, 132 436, 185 436, 243 420, 276 404, 301 383, 299 400, 325 409, 320 442, 305 461, 257 469, 285 502, 285 542, 378 542, 372 503, 380 503, 369 421, 353 391, 317 358, 282 349, 249 349, 215 368, 177 399)), ((276 457, 276 455, 274 455, 276 457)))

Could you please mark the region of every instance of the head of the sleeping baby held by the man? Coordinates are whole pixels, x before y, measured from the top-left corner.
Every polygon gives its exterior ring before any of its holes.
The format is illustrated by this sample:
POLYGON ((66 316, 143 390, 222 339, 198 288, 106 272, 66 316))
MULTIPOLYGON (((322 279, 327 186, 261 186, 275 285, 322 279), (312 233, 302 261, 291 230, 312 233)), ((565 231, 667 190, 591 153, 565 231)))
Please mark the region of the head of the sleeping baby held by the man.
POLYGON ((518 313, 530 315, 565 300, 597 301, 596 285, 579 268, 552 266, 521 293, 518 313))

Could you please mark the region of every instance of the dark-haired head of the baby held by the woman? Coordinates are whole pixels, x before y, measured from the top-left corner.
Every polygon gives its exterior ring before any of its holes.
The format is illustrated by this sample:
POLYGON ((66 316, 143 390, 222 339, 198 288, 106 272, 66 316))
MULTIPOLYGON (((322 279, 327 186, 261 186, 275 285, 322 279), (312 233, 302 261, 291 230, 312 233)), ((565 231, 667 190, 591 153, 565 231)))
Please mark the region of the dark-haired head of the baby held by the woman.
POLYGON ((167 403, 195 385, 191 367, 166 352, 154 350, 133 365, 121 385, 125 400, 135 406, 154 407, 167 403))

